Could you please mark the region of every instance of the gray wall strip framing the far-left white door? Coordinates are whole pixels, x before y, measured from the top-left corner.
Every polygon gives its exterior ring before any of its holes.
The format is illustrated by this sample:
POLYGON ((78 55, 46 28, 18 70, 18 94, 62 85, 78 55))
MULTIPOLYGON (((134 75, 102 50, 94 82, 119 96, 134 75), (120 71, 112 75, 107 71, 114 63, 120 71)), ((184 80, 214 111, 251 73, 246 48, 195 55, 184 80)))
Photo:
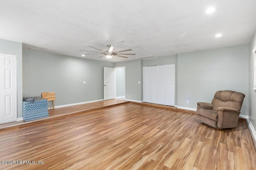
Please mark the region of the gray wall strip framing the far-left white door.
POLYGON ((0 39, 0 53, 17 56, 18 118, 22 117, 22 43, 0 39))

